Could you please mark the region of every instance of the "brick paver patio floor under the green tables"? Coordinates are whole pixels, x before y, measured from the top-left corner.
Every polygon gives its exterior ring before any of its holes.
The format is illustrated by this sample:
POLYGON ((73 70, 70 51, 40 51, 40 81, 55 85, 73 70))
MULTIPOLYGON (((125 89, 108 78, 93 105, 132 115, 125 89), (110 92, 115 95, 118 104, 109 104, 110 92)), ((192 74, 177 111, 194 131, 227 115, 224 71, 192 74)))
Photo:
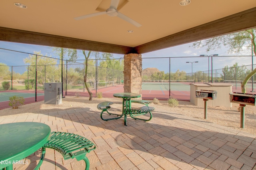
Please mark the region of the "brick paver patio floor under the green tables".
MULTIPOLYGON (((214 123, 156 109, 151 121, 128 116, 103 121, 97 104, 90 108, 61 109, 40 114, 0 117, 0 124, 22 121, 41 122, 52 131, 66 131, 88 138, 96 149, 86 156, 91 170, 251 170, 256 169, 256 135, 214 123)), ((120 104, 113 104, 120 111, 120 104)), ((168 109, 168 110, 167 110, 168 109)), ((15 170, 33 169, 40 150, 28 156, 28 164, 15 164, 15 170)), ((46 149, 40 170, 80 170, 83 160, 64 160, 46 149)))

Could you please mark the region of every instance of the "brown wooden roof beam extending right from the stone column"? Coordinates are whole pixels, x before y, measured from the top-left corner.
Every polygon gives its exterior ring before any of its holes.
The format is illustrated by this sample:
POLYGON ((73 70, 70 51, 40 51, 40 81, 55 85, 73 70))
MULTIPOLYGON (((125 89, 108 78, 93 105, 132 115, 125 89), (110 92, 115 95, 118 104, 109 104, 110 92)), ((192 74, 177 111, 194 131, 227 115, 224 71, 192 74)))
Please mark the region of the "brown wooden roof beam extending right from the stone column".
POLYGON ((256 8, 181 31, 134 47, 139 54, 256 27, 256 8))

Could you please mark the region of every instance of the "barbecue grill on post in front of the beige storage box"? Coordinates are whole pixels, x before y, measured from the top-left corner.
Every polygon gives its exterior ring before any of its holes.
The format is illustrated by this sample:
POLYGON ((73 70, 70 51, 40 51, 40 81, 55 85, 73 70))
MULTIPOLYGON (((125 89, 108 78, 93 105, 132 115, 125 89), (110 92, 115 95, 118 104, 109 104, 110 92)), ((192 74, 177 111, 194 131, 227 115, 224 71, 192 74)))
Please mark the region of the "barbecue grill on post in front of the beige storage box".
POLYGON ((204 100, 204 119, 207 119, 207 101, 217 98, 217 92, 213 90, 196 90, 196 98, 204 100))

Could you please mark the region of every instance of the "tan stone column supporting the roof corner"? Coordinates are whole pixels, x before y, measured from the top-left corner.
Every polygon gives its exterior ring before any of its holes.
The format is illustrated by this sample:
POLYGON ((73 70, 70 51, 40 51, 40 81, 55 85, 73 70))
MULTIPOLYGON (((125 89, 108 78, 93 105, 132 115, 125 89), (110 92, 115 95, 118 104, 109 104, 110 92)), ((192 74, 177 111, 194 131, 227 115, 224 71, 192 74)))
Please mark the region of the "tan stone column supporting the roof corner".
POLYGON ((124 55, 124 92, 142 91, 142 57, 140 54, 124 55))

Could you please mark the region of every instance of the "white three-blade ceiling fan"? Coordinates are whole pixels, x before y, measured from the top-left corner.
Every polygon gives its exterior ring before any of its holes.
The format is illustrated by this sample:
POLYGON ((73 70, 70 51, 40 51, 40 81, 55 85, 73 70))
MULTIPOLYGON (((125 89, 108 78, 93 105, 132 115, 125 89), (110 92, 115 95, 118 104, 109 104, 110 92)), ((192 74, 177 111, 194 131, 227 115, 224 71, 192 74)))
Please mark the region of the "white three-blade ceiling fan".
POLYGON ((132 20, 131 18, 129 18, 128 16, 125 16, 124 14, 118 12, 117 7, 118 7, 118 4, 119 4, 119 1, 120 0, 111 0, 110 7, 104 12, 96 12, 96 13, 93 13, 93 14, 87 14, 87 15, 84 15, 84 16, 76 17, 74 19, 75 20, 82 20, 84 18, 90 18, 90 17, 94 17, 94 16, 100 16, 100 15, 103 15, 103 14, 107 14, 108 16, 118 16, 119 18, 121 18, 121 19, 123 19, 127 22, 130 22, 131 24, 135 25, 136 27, 142 26, 140 23, 138 23, 138 22, 132 20))

